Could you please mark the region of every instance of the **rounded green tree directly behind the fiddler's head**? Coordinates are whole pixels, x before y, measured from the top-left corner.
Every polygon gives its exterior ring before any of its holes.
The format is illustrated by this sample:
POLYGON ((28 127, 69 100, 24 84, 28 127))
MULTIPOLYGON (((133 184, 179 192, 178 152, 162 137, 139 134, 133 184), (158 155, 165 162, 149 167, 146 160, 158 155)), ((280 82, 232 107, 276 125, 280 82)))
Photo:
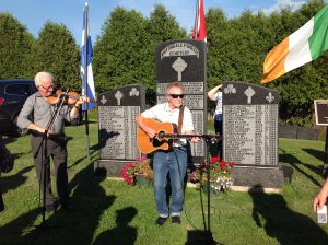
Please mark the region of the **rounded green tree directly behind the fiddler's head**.
POLYGON ((39 32, 34 54, 35 72, 51 72, 58 88, 81 90, 79 47, 65 25, 47 22, 39 32))

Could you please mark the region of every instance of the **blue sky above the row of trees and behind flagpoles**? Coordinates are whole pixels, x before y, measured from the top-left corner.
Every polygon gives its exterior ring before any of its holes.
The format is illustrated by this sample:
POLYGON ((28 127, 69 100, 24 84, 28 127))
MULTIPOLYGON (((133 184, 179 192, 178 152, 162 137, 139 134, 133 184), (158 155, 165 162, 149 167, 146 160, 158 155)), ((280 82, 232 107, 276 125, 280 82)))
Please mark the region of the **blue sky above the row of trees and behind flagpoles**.
MULTIPOLYGON (((204 0, 209 8, 223 9, 229 18, 238 16, 245 9, 253 12, 263 10, 270 13, 279 7, 298 8, 305 0, 204 0)), ((9 12, 37 37, 45 22, 50 20, 65 24, 81 43, 84 0, 1 0, 0 12, 9 12)), ((134 9, 144 16, 153 11, 156 3, 166 7, 180 26, 190 30, 194 24, 196 0, 89 0, 89 23, 92 40, 101 34, 102 25, 116 7, 134 9)))

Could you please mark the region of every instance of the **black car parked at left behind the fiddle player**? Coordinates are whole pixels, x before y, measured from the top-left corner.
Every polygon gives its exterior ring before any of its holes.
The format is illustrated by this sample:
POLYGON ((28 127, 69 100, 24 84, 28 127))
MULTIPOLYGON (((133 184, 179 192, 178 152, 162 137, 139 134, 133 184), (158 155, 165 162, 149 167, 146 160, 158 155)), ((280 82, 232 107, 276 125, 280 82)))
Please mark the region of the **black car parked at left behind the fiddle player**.
POLYGON ((17 116, 26 98, 37 91, 32 79, 0 80, 0 135, 24 136, 27 129, 16 126, 17 116))

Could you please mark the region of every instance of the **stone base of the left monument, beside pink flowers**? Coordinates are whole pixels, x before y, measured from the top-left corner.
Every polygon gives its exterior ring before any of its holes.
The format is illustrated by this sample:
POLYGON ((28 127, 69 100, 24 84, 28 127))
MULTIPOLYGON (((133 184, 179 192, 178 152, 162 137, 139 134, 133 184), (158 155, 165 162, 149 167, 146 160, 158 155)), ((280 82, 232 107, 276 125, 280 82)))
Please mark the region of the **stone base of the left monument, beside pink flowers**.
POLYGON ((99 160, 94 164, 94 173, 98 177, 120 177, 121 178, 121 168, 127 163, 133 161, 124 161, 124 160, 99 160))

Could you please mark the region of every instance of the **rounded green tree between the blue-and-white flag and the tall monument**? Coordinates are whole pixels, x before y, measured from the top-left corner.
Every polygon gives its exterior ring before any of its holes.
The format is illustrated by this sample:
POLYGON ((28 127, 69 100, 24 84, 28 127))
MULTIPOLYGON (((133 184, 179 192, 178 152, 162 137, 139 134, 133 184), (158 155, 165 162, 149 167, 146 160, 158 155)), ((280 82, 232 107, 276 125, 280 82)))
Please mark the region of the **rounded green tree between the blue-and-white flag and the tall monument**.
POLYGON ((142 83, 140 60, 145 20, 134 10, 116 8, 106 20, 94 46, 94 77, 98 92, 142 83))

